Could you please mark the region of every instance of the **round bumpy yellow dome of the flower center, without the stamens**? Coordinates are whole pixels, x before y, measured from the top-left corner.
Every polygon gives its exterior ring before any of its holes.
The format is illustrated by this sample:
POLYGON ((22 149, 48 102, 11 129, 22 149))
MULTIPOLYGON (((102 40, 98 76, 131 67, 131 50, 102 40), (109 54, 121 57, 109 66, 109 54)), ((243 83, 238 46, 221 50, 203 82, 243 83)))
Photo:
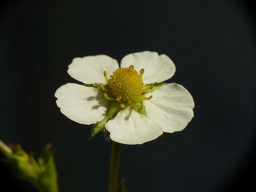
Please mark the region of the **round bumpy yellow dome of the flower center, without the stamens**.
POLYGON ((124 102, 133 101, 141 95, 142 77, 132 68, 117 69, 110 75, 110 93, 113 97, 120 96, 124 102))

